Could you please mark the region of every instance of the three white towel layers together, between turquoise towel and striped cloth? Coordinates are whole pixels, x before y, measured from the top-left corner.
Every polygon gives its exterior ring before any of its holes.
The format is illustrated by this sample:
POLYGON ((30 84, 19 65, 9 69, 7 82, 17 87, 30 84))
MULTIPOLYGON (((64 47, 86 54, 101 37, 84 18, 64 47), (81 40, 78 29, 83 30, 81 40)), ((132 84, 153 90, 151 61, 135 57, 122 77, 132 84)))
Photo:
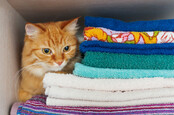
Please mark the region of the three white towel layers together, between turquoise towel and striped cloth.
POLYGON ((172 78, 90 79, 48 73, 44 85, 47 105, 106 107, 174 102, 172 78))

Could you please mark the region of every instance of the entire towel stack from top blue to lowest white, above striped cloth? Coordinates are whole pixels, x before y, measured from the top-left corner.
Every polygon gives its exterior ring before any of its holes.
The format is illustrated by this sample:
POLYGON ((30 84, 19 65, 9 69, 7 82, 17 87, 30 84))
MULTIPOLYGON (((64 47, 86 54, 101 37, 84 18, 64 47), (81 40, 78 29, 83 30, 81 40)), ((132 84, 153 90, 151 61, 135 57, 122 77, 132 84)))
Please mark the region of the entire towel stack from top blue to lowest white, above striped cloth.
POLYGON ((85 24, 85 56, 73 75, 45 75, 47 105, 174 103, 174 20, 86 17, 85 24))

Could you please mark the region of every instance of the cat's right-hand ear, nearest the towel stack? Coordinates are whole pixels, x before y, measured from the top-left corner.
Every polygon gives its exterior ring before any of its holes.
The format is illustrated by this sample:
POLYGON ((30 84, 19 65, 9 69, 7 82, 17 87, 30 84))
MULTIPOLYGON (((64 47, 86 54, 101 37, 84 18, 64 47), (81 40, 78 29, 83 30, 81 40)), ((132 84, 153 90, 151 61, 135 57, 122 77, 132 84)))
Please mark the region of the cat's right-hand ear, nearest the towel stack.
POLYGON ((64 31, 70 33, 70 34, 76 34, 77 30, 78 30, 78 25, 77 25, 77 22, 78 22, 78 18, 75 18, 73 20, 68 20, 68 21, 63 21, 62 22, 62 28, 64 31))

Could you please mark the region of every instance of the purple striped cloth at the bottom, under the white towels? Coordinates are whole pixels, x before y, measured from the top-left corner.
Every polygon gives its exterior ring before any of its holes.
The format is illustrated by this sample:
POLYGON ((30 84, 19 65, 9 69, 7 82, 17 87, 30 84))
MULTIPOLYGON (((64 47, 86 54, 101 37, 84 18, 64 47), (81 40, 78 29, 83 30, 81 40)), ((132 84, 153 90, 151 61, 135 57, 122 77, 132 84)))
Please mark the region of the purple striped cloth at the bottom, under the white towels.
POLYGON ((148 104, 120 107, 61 107, 47 106, 46 96, 38 95, 21 104, 17 115, 60 114, 174 114, 174 103, 148 104))

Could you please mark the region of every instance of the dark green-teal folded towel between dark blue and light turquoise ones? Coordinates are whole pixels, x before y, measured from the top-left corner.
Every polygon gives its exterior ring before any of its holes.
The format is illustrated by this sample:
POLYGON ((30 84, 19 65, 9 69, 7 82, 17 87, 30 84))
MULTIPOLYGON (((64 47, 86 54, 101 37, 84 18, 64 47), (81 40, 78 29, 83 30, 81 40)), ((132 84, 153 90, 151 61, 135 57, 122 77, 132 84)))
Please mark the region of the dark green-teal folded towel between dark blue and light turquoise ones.
POLYGON ((174 55, 132 55, 86 52, 82 63, 98 68, 174 70, 174 55))

